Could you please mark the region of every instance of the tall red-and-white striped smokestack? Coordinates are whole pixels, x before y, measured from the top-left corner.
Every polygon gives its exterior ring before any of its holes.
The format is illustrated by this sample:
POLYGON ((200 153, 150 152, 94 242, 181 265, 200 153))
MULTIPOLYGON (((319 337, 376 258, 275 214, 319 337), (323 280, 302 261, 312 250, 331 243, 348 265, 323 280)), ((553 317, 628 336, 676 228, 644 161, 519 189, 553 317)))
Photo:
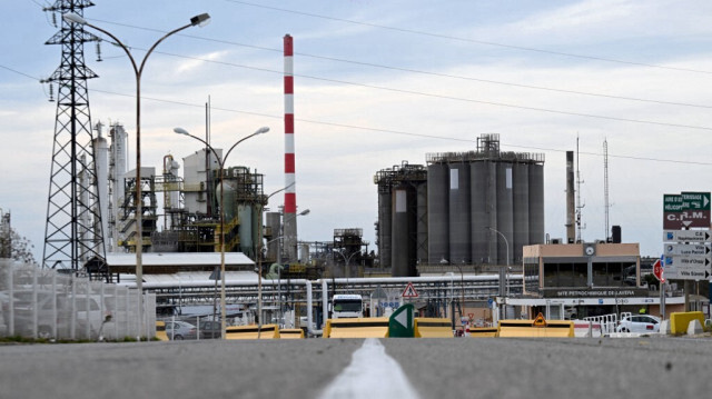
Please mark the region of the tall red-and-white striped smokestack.
MULTIPOLYGON (((285 40, 285 208, 284 242, 288 261, 297 261, 297 186, 294 161, 294 48, 291 36, 285 40)), ((279 259, 281 260, 281 259, 279 259)))

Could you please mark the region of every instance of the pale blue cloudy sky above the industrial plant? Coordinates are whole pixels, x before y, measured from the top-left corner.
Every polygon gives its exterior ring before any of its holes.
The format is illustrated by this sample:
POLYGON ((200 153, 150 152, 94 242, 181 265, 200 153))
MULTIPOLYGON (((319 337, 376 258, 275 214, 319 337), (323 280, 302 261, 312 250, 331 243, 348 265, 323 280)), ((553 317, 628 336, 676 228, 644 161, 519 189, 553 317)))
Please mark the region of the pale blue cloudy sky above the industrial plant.
MULTIPOLYGON (((296 188, 300 240, 362 228, 375 250, 374 174, 433 152, 545 154, 545 230, 565 233, 565 151, 578 146, 582 238, 610 225, 642 256, 662 251, 664 193, 710 191, 712 3, 686 1, 95 0, 85 18, 142 59, 165 32, 208 12, 211 22, 162 42, 141 80, 141 162, 161 169, 199 149, 205 131, 227 163, 285 186, 283 38, 294 37, 296 188)), ((0 2, 0 208, 41 260, 57 103, 41 84, 59 67, 53 1, 0 2)), ((85 48, 91 122, 122 123, 134 167, 135 76, 121 49, 85 48)), ((55 93, 57 88, 55 88, 55 93)), ((274 196, 273 210, 284 202, 274 196)))

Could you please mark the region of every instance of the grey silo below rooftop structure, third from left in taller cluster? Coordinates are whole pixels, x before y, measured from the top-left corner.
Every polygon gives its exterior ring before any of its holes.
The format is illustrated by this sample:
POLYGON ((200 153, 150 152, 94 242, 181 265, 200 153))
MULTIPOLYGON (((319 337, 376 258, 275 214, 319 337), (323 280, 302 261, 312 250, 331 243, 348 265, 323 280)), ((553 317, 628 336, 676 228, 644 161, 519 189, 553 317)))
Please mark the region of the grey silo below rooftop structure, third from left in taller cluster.
POLYGON ((475 265, 485 263, 488 258, 487 238, 490 232, 488 209, 487 209, 487 163, 469 163, 469 220, 471 220, 471 245, 469 251, 472 262, 475 265))

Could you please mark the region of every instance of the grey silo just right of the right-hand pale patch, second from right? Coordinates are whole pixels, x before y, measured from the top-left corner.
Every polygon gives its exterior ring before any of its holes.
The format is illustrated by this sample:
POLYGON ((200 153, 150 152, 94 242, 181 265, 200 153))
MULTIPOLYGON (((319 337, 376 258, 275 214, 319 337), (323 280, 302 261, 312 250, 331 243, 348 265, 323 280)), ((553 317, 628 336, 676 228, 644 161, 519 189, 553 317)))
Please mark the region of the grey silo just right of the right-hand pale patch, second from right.
POLYGON ((522 247, 530 242, 530 168, 527 163, 512 166, 514 179, 514 246, 512 262, 522 259, 522 247))

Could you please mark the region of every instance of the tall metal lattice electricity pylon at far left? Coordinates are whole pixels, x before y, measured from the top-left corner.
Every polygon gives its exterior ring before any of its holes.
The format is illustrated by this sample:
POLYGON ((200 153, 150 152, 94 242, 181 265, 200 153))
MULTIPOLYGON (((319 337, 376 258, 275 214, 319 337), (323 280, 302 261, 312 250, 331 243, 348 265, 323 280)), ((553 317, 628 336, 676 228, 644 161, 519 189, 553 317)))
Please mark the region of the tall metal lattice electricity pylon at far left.
POLYGON ((55 144, 50 172, 42 267, 106 275, 106 249, 97 192, 87 80, 97 78, 85 66, 83 43, 98 41, 81 24, 61 16, 83 16, 89 0, 57 0, 44 11, 59 13, 61 28, 46 44, 61 44, 59 68, 47 80, 58 84, 55 144), (87 266, 87 262, 91 265, 87 266))

